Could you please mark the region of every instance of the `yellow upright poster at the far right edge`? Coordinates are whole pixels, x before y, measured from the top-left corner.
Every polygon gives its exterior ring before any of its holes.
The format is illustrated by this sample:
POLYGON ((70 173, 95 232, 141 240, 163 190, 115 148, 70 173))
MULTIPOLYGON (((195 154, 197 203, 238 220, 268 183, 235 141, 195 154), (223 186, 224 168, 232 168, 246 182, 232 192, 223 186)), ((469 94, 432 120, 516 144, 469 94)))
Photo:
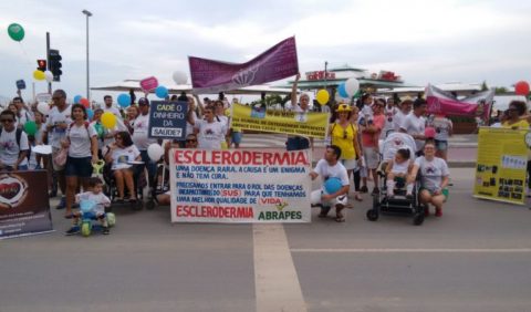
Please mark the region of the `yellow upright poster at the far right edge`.
POLYGON ((527 129, 481 127, 473 196, 524 205, 530 143, 527 129))

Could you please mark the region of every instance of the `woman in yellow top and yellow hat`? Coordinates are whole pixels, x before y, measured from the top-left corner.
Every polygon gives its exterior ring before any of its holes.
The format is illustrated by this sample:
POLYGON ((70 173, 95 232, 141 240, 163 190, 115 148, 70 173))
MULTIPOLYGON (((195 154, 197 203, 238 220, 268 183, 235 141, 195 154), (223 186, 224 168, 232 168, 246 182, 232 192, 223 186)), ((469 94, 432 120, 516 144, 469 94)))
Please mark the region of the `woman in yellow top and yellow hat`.
MULTIPOLYGON (((362 163, 362 158, 358 157, 362 154, 357 142, 357 127, 350 121, 352 108, 348 104, 341 104, 335 112, 337 121, 331 126, 329 135, 332 138, 332 145, 341 148, 340 162, 346 168, 348 179, 351 179, 351 174, 362 163)), ((363 200, 357 191, 354 198, 358 201, 363 200)))

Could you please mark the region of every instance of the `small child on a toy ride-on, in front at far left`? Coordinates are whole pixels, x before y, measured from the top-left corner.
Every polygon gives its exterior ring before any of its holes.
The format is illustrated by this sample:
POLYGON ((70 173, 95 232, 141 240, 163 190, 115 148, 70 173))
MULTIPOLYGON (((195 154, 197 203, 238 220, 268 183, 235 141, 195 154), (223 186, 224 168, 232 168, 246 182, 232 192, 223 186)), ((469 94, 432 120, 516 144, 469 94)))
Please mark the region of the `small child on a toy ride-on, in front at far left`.
MULTIPOLYGON (((81 202, 82 200, 91 200, 95 202, 91 211, 84 211, 83 214, 93 214, 96 219, 102 222, 103 235, 108 235, 108 223, 105 216, 105 207, 111 205, 108 197, 103 194, 103 181, 100 178, 90 178, 88 179, 88 191, 80 193, 75 196, 75 202, 81 202)), ((80 232, 80 217, 82 217, 81 211, 73 214, 73 226, 66 231, 66 235, 75 235, 80 232)))

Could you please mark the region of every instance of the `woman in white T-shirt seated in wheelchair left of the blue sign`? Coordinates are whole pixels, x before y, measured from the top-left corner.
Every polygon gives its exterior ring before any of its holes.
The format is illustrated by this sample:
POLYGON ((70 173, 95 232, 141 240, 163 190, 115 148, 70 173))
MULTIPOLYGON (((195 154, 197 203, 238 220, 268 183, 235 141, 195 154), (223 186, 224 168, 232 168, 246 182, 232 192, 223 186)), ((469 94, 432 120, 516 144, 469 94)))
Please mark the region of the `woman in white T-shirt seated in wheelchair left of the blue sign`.
POLYGON ((116 187, 118 188, 116 202, 124 202, 125 185, 131 195, 129 201, 134 204, 137 199, 135 181, 133 179, 133 165, 131 162, 140 160, 140 152, 133 144, 129 133, 125 131, 118 132, 114 136, 114 139, 115 142, 108 146, 108 150, 105 154, 105 160, 113 164, 111 169, 113 170, 116 187))

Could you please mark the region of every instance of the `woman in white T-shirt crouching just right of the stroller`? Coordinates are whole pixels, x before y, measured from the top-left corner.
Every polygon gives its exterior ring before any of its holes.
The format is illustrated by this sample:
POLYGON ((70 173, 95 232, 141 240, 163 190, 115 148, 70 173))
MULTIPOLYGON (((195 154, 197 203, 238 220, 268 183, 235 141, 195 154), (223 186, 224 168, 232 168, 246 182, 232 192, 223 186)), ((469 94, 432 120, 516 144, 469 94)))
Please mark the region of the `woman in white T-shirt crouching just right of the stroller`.
POLYGON ((442 191, 448 186, 450 171, 445 159, 435 157, 435 143, 427 141, 424 145, 424 156, 415 159, 412 177, 420 170, 419 200, 426 205, 425 216, 429 215, 429 204, 435 206, 435 216, 442 216, 442 204, 446 195, 442 191))

